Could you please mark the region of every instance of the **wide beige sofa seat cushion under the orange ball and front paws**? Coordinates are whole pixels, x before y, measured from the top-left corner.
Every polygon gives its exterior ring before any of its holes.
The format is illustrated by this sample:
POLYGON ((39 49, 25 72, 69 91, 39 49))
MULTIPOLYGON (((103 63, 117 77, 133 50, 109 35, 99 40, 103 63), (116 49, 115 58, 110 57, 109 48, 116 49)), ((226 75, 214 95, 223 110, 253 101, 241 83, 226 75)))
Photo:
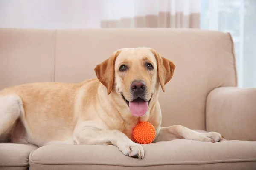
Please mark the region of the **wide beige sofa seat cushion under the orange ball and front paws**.
POLYGON ((54 144, 30 154, 30 170, 252 170, 256 142, 217 143, 177 139, 143 145, 144 159, 123 155, 115 146, 54 144))

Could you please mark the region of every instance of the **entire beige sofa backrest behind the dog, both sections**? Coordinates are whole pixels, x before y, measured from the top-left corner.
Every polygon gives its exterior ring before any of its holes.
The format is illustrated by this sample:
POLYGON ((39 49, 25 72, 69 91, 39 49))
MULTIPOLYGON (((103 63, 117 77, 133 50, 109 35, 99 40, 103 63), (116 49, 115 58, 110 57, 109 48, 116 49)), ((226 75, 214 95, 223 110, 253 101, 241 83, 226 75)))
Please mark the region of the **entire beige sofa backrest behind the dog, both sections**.
POLYGON ((0 89, 29 82, 81 82, 113 51, 147 46, 172 60, 175 73, 160 92, 163 126, 205 130, 214 88, 236 86, 230 34, 197 29, 0 29, 0 89))

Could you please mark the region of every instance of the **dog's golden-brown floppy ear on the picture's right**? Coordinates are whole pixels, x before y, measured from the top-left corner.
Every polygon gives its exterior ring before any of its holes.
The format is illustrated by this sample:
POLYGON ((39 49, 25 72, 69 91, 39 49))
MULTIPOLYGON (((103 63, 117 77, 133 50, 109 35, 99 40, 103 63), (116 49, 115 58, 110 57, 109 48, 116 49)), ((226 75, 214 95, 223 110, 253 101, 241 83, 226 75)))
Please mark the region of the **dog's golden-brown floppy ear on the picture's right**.
POLYGON ((162 90, 164 91, 164 85, 172 79, 175 65, 169 59, 161 57, 157 51, 150 49, 157 60, 157 74, 162 90))

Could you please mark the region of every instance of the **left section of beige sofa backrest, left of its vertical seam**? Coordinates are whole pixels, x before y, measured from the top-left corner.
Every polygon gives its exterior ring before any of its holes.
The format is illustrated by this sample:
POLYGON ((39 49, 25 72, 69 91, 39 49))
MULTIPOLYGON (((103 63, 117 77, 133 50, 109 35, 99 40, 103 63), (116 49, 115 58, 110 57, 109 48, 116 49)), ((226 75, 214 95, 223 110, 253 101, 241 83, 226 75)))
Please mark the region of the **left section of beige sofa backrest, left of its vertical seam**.
POLYGON ((55 31, 0 29, 0 89, 54 80, 55 31))

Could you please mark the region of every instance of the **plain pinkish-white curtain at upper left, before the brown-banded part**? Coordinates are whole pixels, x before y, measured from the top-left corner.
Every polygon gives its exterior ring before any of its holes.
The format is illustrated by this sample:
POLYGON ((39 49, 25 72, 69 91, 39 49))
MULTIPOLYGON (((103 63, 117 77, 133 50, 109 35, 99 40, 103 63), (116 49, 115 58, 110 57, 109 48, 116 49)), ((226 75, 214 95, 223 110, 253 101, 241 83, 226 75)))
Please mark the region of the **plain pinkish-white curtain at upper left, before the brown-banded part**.
POLYGON ((0 0, 0 27, 100 28, 101 0, 0 0))

